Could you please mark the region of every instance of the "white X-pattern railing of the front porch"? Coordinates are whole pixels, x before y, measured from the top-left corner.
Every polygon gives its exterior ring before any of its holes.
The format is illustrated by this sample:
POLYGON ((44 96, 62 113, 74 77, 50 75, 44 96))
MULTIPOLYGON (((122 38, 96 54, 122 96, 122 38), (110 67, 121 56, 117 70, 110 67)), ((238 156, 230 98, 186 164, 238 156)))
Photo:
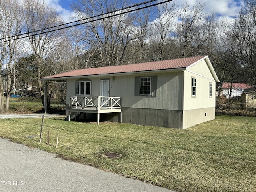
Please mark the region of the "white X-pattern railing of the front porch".
POLYGON ((120 97, 86 97, 86 96, 70 96, 69 108, 82 108, 82 109, 114 109, 121 108, 120 97))

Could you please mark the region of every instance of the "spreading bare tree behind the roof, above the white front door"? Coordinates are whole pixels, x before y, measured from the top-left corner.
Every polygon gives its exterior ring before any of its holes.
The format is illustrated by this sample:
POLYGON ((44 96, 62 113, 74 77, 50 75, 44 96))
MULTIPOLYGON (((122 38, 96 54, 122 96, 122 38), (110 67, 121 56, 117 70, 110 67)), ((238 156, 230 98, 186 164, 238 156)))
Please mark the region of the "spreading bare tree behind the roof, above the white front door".
MULTIPOLYGON (((112 11, 124 8, 126 5, 126 0, 78 0, 72 8, 76 12, 76 18, 86 19, 108 12, 111 13, 107 16, 113 16, 116 12, 112 11)), ((104 17, 106 15, 98 18, 104 17)), ((129 14, 121 14, 82 26, 84 42, 89 49, 96 50, 98 57, 96 65, 111 66, 124 63, 126 49, 133 39, 130 24, 129 14)))

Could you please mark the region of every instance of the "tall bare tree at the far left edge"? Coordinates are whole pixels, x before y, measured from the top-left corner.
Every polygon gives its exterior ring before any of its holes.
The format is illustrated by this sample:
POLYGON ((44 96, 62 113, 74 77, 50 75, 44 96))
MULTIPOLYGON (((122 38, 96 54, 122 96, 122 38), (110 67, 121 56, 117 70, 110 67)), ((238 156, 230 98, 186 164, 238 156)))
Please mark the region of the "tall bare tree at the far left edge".
MULTIPOLYGON (((17 0, 2 0, 0 1, 0 34, 5 38, 0 45, 1 58, 0 68, 5 68, 6 71, 6 105, 5 110, 9 111, 9 96, 12 91, 11 78, 15 79, 15 63, 19 56, 20 40, 12 40, 11 36, 15 36, 22 32, 22 15, 21 9, 17 0)), ((14 82, 15 83, 15 82, 14 82)), ((2 93, 2 82, 0 82, 2 93)), ((1 94, 2 95, 2 94, 1 94)), ((0 97, 0 112, 3 111, 3 100, 0 97)))

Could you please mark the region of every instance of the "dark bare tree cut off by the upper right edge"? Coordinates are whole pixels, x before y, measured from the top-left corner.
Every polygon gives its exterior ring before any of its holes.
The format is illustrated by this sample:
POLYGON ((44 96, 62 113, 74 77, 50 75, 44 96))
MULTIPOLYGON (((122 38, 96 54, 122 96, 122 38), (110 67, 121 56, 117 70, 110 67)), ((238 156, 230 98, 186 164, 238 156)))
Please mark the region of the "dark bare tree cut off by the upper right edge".
POLYGON ((232 32, 240 70, 256 89, 256 0, 245 0, 232 32))

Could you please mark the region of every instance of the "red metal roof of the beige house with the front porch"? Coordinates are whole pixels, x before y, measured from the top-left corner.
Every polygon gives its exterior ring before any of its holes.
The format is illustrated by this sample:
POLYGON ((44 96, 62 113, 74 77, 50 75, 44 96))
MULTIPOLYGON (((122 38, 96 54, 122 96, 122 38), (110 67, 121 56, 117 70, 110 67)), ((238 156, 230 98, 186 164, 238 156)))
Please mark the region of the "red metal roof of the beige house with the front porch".
POLYGON ((190 57, 190 58, 179 58, 179 59, 156 61, 156 62, 130 64, 130 65, 79 69, 79 70, 64 72, 64 73, 60 73, 52 76, 47 76, 42 79, 179 69, 179 68, 186 68, 205 57, 206 56, 197 56, 197 57, 190 57))

